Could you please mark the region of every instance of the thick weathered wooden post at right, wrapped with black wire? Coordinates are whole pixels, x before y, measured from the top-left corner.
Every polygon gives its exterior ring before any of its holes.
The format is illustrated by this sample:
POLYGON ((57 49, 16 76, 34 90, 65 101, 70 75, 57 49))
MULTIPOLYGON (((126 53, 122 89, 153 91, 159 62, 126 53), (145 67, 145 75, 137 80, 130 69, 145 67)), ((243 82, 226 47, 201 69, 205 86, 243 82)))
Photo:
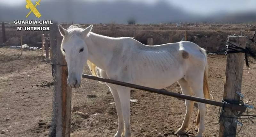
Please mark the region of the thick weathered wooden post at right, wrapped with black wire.
MULTIPOLYGON (((245 48, 246 37, 229 36, 228 42, 245 48)), ((228 45, 232 46, 232 45, 228 45)), ((236 92, 241 92, 242 76, 244 68, 244 53, 231 53, 227 55, 226 81, 224 84, 223 100, 239 101, 236 92)), ((219 137, 235 137, 237 123, 237 112, 229 108, 221 109, 219 137), (235 118, 226 118, 235 117, 235 118)))

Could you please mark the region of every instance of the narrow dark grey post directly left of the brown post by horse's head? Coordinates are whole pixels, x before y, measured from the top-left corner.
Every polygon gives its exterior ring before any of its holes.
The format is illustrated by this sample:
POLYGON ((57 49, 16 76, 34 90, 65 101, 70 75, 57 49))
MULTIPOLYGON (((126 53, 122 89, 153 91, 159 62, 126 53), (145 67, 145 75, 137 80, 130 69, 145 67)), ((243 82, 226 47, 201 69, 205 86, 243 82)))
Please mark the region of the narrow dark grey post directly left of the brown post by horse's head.
MULTIPOLYGON (((52 71, 56 72, 56 45, 57 45, 57 33, 58 26, 57 23, 53 23, 50 25, 50 55, 51 55, 51 63, 52 63, 52 71)), ((56 137, 56 126, 57 126, 57 109, 56 109, 56 73, 53 73, 53 97, 52 97, 52 123, 49 130, 49 137, 56 137)))

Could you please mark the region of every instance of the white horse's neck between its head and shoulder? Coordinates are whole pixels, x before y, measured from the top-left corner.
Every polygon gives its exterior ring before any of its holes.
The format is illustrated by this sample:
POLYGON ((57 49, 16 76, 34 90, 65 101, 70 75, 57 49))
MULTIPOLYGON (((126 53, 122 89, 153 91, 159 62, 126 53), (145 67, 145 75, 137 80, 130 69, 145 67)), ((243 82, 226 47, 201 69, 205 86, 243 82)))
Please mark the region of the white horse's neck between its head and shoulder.
POLYGON ((99 68, 105 70, 113 55, 113 48, 117 46, 118 40, 101 36, 90 32, 85 43, 88 46, 88 60, 99 68))

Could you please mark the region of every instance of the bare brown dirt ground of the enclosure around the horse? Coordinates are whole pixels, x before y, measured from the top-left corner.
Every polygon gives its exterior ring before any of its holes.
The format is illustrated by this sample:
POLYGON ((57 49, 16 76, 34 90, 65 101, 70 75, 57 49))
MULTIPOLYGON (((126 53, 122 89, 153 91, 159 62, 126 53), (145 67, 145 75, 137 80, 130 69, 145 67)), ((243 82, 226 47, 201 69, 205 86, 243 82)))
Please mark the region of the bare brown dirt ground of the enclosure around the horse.
MULTIPOLYGON (((41 51, 24 51, 0 48, 0 137, 47 136, 52 112, 51 64, 41 61, 41 51)), ((209 55, 210 91, 214 100, 220 101, 225 81, 225 55, 209 55)), ((90 74, 85 68, 86 74, 90 74)), ((256 65, 244 65, 242 93, 244 102, 256 106, 256 65)), ((177 83, 166 90, 181 93, 177 83)), ((177 137, 185 114, 184 100, 146 91, 133 91, 131 102, 131 130, 133 137, 156 137, 162 133, 177 137)), ((117 131, 117 115, 114 99, 105 84, 83 79, 81 88, 72 90, 71 136, 113 137, 117 131), (83 116, 77 112, 84 113, 83 116)), ((205 137, 219 133, 219 107, 209 106, 206 112, 205 137)), ((188 131, 195 131, 197 108, 194 107, 188 131)), ((256 114, 255 110, 249 110, 256 114)), ((256 122, 255 118, 252 118, 256 122)), ((253 137, 256 125, 243 120, 244 126, 237 135, 253 137)), ((240 126, 238 126, 238 129, 240 126)))

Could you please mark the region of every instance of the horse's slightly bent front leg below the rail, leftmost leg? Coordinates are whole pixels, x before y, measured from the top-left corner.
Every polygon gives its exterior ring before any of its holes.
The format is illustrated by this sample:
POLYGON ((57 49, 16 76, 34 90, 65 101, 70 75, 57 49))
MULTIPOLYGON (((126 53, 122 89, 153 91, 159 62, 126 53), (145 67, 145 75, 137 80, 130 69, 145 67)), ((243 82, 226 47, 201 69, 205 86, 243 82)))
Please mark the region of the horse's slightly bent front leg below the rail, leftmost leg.
POLYGON ((114 97, 115 104, 116 104, 116 112, 118 116, 118 129, 115 134, 115 137, 122 137, 122 134, 124 133, 124 118, 123 118, 123 112, 121 108, 121 102, 120 102, 117 90, 113 88, 109 88, 109 89, 114 97))

